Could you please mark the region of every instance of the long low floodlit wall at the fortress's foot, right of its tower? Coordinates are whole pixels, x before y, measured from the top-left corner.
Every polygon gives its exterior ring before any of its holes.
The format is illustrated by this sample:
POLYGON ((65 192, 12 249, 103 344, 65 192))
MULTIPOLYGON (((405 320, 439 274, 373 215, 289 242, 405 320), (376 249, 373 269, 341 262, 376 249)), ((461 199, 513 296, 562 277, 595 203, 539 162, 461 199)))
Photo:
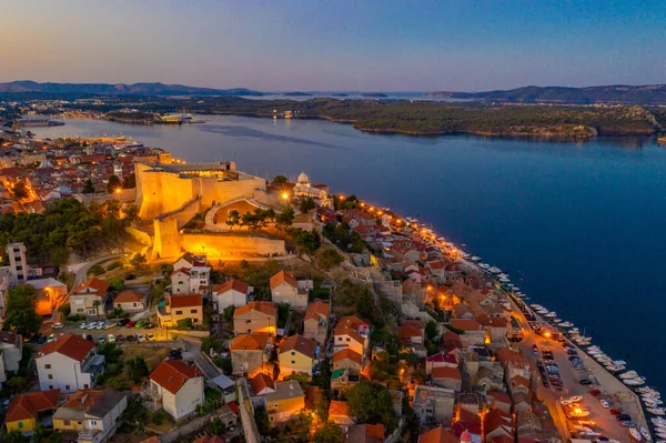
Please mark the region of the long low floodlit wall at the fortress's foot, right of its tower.
POLYGON ((284 241, 260 236, 183 234, 182 248, 209 258, 284 255, 284 241))

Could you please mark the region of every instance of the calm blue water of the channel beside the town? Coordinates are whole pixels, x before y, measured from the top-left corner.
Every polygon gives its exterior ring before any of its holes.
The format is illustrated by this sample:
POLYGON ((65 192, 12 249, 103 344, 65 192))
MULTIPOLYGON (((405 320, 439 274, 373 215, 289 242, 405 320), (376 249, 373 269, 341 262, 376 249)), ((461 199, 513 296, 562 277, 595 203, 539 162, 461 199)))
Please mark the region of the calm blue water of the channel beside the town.
POLYGON ((182 127, 68 121, 39 135, 133 135, 186 161, 235 160, 418 218, 586 328, 650 385, 665 371, 666 149, 365 134, 324 121, 223 118, 182 127))

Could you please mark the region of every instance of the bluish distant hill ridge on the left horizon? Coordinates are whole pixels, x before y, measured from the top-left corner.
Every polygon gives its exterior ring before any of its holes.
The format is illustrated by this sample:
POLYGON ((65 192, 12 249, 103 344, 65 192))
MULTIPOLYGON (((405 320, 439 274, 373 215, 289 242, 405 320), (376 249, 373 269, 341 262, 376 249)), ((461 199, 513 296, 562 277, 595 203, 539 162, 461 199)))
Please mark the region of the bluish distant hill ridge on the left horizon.
POLYGON ((163 83, 38 83, 29 80, 0 83, 0 93, 3 92, 80 93, 94 95, 263 95, 262 92, 244 88, 211 89, 163 83))

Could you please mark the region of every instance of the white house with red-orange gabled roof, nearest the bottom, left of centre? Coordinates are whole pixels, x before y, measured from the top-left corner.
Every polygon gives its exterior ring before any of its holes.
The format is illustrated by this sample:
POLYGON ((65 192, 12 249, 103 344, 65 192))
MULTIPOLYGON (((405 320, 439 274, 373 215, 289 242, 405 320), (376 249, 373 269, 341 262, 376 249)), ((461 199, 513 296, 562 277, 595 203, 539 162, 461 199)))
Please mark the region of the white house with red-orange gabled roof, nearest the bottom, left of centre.
POLYGON ((145 392, 178 422, 203 404, 203 374, 182 360, 165 360, 150 374, 145 392))

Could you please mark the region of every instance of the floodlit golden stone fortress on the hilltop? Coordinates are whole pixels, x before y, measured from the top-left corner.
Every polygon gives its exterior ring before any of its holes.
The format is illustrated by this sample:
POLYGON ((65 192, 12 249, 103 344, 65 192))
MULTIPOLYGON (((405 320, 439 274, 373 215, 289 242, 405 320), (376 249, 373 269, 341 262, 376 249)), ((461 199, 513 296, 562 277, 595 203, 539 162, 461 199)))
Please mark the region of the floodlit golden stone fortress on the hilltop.
POLYGON ((284 241, 260 233, 214 229, 224 223, 210 223, 205 230, 185 230, 194 217, 226 215, 232 209, 283 208, 281 194, 266 190, 264 179, 239 171, 234 162, 192 164, 135 163, 139 217, 153 219, 152 258, 165 259, 183 251, 211 258, 284 255, 284 241), (208 229, 211 228, 211 229, 208 229))

